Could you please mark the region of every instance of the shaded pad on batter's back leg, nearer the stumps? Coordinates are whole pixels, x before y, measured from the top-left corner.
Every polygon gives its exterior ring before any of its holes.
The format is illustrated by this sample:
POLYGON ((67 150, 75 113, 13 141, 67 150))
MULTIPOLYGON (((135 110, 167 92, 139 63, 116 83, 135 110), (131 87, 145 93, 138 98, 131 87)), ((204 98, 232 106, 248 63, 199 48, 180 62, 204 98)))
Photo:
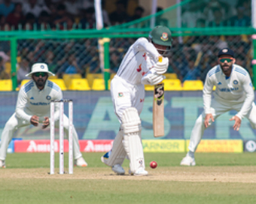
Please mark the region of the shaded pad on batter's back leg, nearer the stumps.
POLYGON ((114 138, 113 146, 110 154, 108 154, 108 158, 104 157, 104 163, 108 166, 114 166, 115 164, 120 164, 122 166, 125 157, 126 151, 123 148, 123 130, 120 130, 114 138))

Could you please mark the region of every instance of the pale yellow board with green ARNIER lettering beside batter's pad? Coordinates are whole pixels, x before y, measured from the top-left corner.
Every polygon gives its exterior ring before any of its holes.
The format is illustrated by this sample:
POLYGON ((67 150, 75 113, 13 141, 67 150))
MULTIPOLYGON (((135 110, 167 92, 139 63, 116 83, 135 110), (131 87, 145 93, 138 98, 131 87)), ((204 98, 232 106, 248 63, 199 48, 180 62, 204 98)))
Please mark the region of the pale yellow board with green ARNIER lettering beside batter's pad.
POLYGON ((184 139, 143 139, 144 152, 184 152, 184 139))

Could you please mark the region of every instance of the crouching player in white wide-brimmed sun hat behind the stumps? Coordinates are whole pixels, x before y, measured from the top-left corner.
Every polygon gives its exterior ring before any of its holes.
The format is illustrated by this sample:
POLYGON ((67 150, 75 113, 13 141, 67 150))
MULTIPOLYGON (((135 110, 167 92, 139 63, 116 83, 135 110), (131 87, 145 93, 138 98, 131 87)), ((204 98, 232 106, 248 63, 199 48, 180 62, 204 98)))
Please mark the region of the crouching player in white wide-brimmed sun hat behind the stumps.
MULTIPOLYGON (((2 131, 0 168, 5 168, 8 144, 11 142, 15 130, 30 124, 38 126, 39 123, 42 124, 44 129, 50 124, 50 101, 62 99, 61 89, 48 80, 50 76, 54 76, 54 74, 48 71, 48 67, 44 63, 35 63, 32 66, 32 71, 27 74, 27 77, 32 77, 32 80, 20 88, 15 113, 11 115, 2 131)), ((56 105, 55 110, 54 119, 59 121, 59 105, 56 105)), ((69 118, 64 115, 63 120, 64 131, 67 135, 69 133, 69 118)), ((58 122, 55 123, 56 126, 58 124, 58 122)), ((73 127, 73 144, 75 165, 87 166, 80 151, 78 133, 75 127, 73 127)))

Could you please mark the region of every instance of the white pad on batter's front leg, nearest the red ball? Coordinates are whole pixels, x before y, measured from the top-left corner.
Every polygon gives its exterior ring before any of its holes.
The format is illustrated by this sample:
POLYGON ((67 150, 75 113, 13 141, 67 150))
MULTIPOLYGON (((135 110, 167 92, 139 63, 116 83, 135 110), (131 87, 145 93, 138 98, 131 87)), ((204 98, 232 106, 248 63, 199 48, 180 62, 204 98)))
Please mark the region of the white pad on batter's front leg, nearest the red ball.
POLYGON ((130 158, 130 171, 136 172, 137 169, 145 169, 145 161, 141 138, 141 120, 138 111, 131 107, 124 111, 122 115, 123 127, 123 146, 130 158))

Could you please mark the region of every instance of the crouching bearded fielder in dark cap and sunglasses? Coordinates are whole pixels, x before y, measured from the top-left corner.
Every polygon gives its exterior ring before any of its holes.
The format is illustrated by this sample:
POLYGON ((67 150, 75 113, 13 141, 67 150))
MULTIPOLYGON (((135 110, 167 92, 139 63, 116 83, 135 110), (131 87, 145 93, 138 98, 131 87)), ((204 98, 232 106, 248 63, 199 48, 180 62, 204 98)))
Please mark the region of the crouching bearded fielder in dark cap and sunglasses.
POLYGON ((203 88, 203 113, 197 118, 190 136, 189 151, 181 160, 181 165, 195 166, 194 152, 199 145, 204 130, 215 121, 218 116, 230 110, 237 113, 230 121, 234 121, 234 130, 239 130, 242 118, 248 118, 251 127, 256 129, 256 108, 254 91, 248 72, 235 65, 233 50, 224 48, 218 52, 218 64, 206 75, 203 88), (216 86, 215 98, 212 100, 212 88, 216 86), (212 101, 212 104, 211 104, 212 101))

